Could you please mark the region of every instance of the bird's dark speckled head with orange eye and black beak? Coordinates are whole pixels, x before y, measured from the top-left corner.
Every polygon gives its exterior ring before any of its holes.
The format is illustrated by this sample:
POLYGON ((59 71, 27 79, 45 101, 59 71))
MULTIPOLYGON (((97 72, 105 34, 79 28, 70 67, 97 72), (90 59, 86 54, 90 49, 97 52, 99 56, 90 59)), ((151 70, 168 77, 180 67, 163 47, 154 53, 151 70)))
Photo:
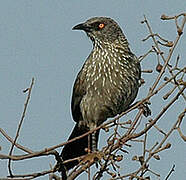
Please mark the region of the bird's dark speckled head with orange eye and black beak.
POLYGON ((93 42, 113 43, 115 40, 124 37, 119 25, 108 17, 93 17, 74 26, 72 29, 85 31, 93 42))

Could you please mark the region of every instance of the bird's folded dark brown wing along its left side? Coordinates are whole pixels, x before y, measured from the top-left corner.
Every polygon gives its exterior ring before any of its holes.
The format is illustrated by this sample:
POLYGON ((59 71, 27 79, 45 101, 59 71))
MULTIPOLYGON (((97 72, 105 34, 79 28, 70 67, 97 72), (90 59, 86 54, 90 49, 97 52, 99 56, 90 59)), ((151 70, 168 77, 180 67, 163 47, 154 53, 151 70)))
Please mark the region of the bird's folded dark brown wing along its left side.
POLYGON ((75 80, 71 101, 72 117, 76 122, 79 122, 82 119, 80 103, 83 96, 86 94, 82 73, 83 72, 80 71, 75 80))

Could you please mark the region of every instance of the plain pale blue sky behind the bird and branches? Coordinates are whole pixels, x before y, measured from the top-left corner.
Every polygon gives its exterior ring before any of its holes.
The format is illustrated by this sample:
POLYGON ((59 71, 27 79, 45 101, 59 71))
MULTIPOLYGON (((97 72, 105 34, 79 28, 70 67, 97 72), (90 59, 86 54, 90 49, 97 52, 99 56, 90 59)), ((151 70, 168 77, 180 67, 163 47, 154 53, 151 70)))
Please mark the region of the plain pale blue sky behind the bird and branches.
MULTIPOLYGON (((162 22, 160 16, 176 15, 185 10, 184 0, 1 0, 0 127, 11 137, 15 136, 26 98, 22 90, 29 86, 31 78, 34 77, 31 101, 18 142, 38 151, 66 141, 74 126, 70 113, 72 85, 92 48, 86 35, 72 31, 72 27, 93 16, 112 17, 123 29, 132 51, 139 56, 151 47, 150 40, 145 43, 141 41, 148 34, 145 25, 140 23, 143 15, 147 16, 154 32, 174 40, 174 22, 162 22)), ((175 51, 175 57, 178 53, 183 57, 182 66, 185 65, 185 42, 184 34, 175 51)), ((155 65, 155 56, 149 56, 142 63, 143 69, 154 69, 155 65)), ((140 90, 138 99, 146 94, 154 76, 144 75, 144 78, 147 83, 140 90)), ((152 103, 152 111, 156 114, 160 110, 159 102, 154 99, 152 103)), ((179 106, 171 108, 170 115, 165 116, 160 125, 166 128, 172 115, 183 106, 182 101, 179 106)), ((153 137, 151 143, 155 141, 156 137, 153 137)), ((164 177, 175 163, 176 172, 170 180, 178 177, 184 179, 185 145, 177 133, 174 133, 170 141, 173 144, 170 152, 163 152, 162 161, 152 164, 164 177)), ((1 153, 7 154, 10 144, 2 136, 0 146, 1 153)), ((19 150, 14 152, 20 153, 19 150)), ((49 169, 49 163, 54 165, 53 157, 14 162, 13 170, 17 174, 42 171, 49 169)), ((0 169, 0 178, 5 177, 6 161, 0 162, 0 169)))

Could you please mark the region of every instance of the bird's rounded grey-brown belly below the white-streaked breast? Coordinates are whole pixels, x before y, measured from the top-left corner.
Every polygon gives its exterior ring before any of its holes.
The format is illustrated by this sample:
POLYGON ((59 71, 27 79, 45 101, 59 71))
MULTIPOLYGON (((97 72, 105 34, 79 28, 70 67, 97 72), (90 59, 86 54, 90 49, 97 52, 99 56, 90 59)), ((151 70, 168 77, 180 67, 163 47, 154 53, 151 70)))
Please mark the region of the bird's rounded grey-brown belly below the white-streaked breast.
POLYGON ((114 83, 109 79, 92 83, 80 105, 87 126, 90 123, 100 125, 126 110, 137 95, 136 84, 127 80, 114 83))

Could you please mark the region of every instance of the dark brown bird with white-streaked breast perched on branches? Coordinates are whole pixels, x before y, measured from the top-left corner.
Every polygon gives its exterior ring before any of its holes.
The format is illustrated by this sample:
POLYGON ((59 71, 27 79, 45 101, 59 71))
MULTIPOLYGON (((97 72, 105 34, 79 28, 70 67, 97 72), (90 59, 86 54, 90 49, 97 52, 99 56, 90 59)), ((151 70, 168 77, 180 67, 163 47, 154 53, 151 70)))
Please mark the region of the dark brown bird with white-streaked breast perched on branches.
MULTIPOLYGON (((71 111, 76 124, 68 140, 127 110, 138 94, 141 79, 140 62, 115 20, 92 17, 72 29, 84 31, 93 47, 73 86, 71 111)), ((99 130, 90 135, 92 152, 97 150, 98 136, 99 130)), ((86 148, 88 136, 66 144, 60 156, 63 161, 76 158, 85 155, 86 148)), ((67 171, 77 164, 74 160, 63 167, 67 171)))

